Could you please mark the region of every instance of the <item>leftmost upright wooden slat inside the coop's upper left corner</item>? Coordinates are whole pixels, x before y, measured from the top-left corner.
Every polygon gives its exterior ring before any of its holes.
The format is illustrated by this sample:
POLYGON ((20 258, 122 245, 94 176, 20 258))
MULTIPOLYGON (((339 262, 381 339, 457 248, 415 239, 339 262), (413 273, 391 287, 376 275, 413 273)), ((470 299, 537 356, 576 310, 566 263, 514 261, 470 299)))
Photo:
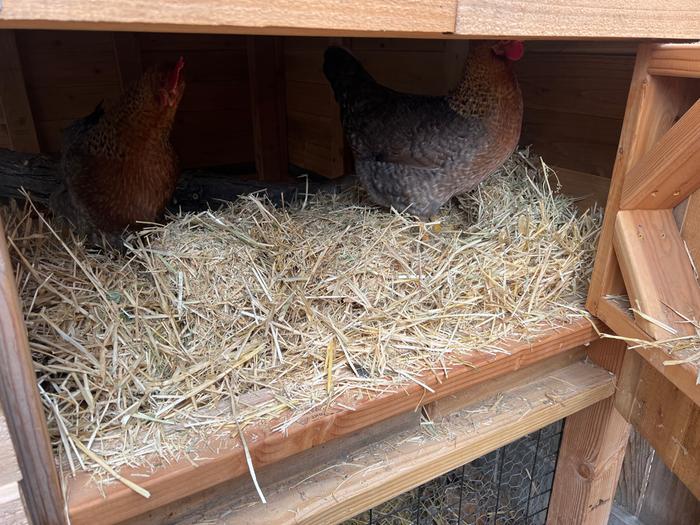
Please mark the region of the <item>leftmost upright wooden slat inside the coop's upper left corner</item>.
POLYGON ((0 30, 0 104, 5 112, 12 149, 39 153, 15 32, 11 30, 0 30))

